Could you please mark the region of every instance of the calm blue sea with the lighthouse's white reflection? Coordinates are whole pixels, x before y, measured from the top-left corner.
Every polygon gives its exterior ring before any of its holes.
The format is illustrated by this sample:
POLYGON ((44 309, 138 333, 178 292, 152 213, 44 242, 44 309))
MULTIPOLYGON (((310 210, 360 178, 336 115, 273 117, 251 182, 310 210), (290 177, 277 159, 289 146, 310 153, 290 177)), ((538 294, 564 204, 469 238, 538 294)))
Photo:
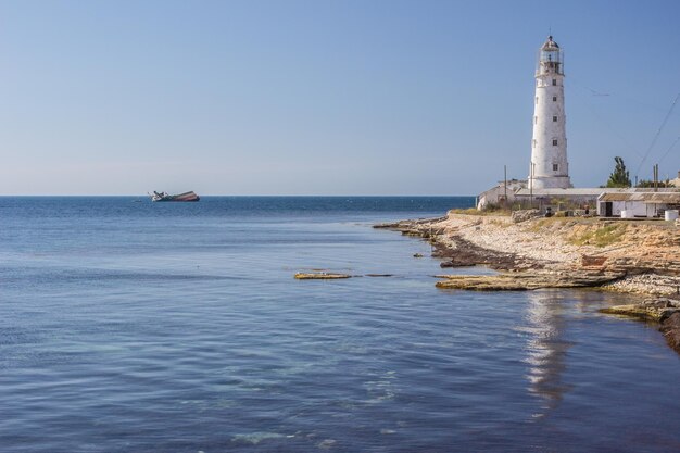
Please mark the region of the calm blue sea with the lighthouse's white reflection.
POLYGON ((370 228, 473 203, 0 198, 0 451, 680 451, 633 298, 438 290, 370 228))

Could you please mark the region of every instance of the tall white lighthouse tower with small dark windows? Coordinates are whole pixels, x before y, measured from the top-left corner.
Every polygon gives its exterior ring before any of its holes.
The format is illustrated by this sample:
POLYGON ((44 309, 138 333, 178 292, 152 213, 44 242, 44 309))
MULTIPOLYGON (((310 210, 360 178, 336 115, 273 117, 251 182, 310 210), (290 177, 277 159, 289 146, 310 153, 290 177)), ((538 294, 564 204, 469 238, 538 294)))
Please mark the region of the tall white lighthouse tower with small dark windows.
POLYGON ((557 42, 549 36, 539 50, 536 70, 530 188, 572 187, 569 180, 565 123, 563 54, 557 42))

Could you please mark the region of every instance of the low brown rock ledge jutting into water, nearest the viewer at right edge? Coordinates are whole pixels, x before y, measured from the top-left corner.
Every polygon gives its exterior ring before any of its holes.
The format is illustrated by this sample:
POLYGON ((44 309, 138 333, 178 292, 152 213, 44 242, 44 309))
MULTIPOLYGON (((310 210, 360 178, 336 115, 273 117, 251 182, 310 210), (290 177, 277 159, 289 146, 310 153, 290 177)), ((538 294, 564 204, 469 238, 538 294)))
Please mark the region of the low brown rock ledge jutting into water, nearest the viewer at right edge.
POLYGON ((639 304, 615 305, 600 312, 659 323, 659 330, 668 344, 680 353, 680 300, 647 299, 639 304))

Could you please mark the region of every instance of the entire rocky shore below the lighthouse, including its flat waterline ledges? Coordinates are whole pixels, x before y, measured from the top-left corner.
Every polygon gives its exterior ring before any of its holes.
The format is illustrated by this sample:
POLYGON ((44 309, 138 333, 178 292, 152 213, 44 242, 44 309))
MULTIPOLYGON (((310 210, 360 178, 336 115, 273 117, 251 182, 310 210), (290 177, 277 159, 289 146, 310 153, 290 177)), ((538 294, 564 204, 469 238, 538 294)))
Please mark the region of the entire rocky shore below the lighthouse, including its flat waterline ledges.
POLYGON ((499 275, 441 275, 443 289, 597 287, 654 297, 605 313, 657 322, 680 353, 680 227, 664 221, 539 217, 449 212, 376 225, 429 240, 442 267, 484 265, 499 275))

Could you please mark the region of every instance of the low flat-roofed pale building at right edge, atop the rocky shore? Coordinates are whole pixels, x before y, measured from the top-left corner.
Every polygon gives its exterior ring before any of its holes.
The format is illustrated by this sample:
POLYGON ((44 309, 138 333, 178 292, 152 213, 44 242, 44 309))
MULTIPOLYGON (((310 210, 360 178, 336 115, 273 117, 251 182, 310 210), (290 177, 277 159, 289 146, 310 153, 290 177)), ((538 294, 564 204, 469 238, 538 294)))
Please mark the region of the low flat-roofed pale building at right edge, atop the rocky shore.
MULTIPOLYGON (((633 189, 634 190, 634 189, 633 189)), ((667 210, 680 207, 678 191, 631 191, 603 193, 597 198, 601 217, 659 217, 667 210)))

